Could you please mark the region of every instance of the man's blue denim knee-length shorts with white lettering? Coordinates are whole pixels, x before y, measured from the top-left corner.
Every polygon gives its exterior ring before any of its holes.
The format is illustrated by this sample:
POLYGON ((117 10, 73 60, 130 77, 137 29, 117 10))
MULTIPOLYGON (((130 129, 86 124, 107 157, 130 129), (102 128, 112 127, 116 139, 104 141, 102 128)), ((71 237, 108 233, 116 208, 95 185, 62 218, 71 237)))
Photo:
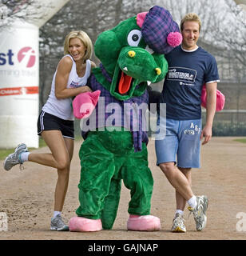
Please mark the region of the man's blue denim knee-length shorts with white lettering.
POLYGON ((182 168, 200 168, 201 119, 179 121, 158 117, 157 126, 164 134, 155 140, 157 166, 177 162, 182 168))

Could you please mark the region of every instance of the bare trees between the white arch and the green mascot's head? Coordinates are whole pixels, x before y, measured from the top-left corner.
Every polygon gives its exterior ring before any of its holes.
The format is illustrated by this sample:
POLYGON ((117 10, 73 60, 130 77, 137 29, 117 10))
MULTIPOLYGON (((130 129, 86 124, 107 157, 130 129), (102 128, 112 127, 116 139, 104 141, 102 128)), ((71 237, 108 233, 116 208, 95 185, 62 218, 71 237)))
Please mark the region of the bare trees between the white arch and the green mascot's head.
MULTIPOLYGON (((98 34, 116 26, 125 18, 147 11, 153 1, 102 0, 69 1, 53 18, 40 28, 40 102, 50 92, 51 79, 63 55, 63 40, 71 30, 85 30, 94 43, 98 34), (48 88, 47 88, 48 87, 48 88)), ((99 60, 93 55, 93 60, 99 60)))

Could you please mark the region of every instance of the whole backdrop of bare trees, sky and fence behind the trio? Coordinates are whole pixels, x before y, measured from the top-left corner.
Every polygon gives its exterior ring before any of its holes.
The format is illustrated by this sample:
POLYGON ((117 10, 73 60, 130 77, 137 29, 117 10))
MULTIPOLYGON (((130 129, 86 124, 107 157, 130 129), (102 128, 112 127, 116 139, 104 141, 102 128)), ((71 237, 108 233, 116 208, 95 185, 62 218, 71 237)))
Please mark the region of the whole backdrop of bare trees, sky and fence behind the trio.
MULTIPOLYGON (((198 45, 215 56, 218 89, 226 98, 224 110, 216 113, 213 135, 246 136, 246 12, 232 0, 70 0, 40 29, 40 107, 50 94, 52 70, 62 58, 65 34, 85 30, 94 43, 102 31, 154 5, 168 9, 178 24, 188 12, 200 16, 198 45)), ((93 61, 99 64, 94 55, 93 61)), ((162 83, 152 84, 153 90, 161 91, 162 83)))

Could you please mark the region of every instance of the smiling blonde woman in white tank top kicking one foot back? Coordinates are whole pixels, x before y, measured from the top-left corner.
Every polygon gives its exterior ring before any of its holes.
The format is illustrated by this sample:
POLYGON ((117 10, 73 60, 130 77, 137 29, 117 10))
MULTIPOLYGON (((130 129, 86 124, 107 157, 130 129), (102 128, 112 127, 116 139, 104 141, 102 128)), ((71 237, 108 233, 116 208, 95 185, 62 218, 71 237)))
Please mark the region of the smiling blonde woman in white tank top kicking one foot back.
POLYGON ((64 57, 54 73, 50 96, 38 117, 38 135, 49 146, 50 154, 30 153, 26 144, 18 145, 5 162, 4 169, 10 170, 23 162, 37 162, 58 170, 58 181, 54 192, 54 216, 50 230, 69 230, 62 220, 62 208, 69 183, 70 162, 73 157, 73 110, 72 97, 91 91, 87 79, 95 63, 90 61, 92 42, 84 31, 71 31, 64 41, 64 57))

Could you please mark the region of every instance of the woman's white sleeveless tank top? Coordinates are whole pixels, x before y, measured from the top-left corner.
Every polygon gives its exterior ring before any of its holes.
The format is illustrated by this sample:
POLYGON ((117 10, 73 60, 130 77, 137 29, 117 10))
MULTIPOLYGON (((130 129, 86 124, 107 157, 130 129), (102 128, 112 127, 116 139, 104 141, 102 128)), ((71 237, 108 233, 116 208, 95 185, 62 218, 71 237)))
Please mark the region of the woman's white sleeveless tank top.
MULTIPOLYGON (((85 75, 82 78, 80 78, 77 75, 76 63, 74 62, 72 56, 67 54, 63 58, 67 56, 69 56, 69 58, 72 59, 73 66, 69 73, 69 79, 68 79, 66 88, 76 88, 78 86, 85 86, 87 83, 87 79, 89 78, 89 75, 90 75, 90 69, 91 69, 90 60, 89 59, 86 60, 85 75)), ((58 71, 58 68, 54 73, 49 98, 46 104, 42 107, 42 110, 49 114, 53 114, 58 118, 62 118, 64 120, 74 120, 73 109, 72 109, 72 98, 58 99, 55 96, 55 93, 54 93, 55 78, 56 78, 57 71, 58 71)))

